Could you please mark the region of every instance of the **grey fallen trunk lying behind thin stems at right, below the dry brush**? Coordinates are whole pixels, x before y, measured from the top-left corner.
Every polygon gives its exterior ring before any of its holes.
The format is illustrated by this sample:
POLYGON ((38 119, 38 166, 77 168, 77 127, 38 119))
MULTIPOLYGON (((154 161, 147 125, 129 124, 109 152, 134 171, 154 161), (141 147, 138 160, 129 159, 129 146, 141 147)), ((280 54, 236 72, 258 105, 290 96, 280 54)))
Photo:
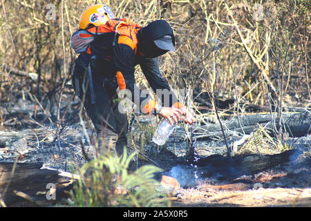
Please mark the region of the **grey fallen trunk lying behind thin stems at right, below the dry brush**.
MULTIPOLYGON (((238 119, 231 119, 222 121, 225 129, 225 135, 234 135, 234 133, 245 134, 252 133, 259 126, 263 126, 267 130, 279 130, 277 124, 277 114, 272 115, 245 115, 240 116, 240 123, 238 119)), ((283 131, 287 132, 290 137, 301 137, 310 133, 311 114, 305 113, 283 113, 282 120, 283 131)), ((216 124, 198 126, 194 130, 194 135, 197 138, 213 138, 223 137, 219 122, 216 124)))

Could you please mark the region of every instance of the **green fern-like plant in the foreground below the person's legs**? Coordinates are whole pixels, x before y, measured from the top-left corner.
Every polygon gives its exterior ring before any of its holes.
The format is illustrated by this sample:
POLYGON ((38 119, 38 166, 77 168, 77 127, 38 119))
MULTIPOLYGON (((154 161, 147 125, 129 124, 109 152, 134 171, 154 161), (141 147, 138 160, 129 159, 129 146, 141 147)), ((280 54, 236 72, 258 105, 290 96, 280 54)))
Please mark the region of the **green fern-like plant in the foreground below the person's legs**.
POLYGON ((79 170, 83 177, 73 189, 75 206, 167 206, 167 195, 157 191, 160 185, 154 174, 156 166, 141 166, 133 173, 127 170, 136 152, 120 157, 102 155, 79 170), (122 186, 126 194, 116 194, 122 186))

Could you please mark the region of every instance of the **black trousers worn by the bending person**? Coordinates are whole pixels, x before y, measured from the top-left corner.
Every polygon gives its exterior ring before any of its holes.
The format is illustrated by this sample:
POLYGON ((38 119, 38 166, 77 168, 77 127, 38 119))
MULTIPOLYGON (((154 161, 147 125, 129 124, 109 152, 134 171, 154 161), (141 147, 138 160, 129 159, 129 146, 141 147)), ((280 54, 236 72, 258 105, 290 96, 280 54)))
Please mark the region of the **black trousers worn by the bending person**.
POLYGON ((128 120, 126 113, 120 113, 118 109, 117 86, 100 75, 93 75, 92 79, 95 104, 91 101, 88 71, 75 70, 73 88, 79 99, 84 101, 86 113, 96 128, 97 153, 112 152, 122 155, 127 144, 128 120))

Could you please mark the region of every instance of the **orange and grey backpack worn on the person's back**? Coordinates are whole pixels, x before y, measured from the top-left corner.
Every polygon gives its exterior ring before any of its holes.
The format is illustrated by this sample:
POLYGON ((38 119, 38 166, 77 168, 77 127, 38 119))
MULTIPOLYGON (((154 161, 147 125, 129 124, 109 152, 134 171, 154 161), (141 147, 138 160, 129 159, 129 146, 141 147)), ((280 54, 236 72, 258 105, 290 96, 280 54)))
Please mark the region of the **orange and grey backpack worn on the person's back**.
MULTIPOLYGON (((77 54, 86 52, 96 36, 104 35, 108 32, 115 32, 115 36, 119 34, 130 37, 133 43, 137 45, 138 39, 136 34, 140 28, 141 26, 131 22, 129 19, 111 19, 104 25, 74 32, 71 36, 71 47, 77 54)), ((113 44, 115 44, 115 41, 113 41, 113 44)))

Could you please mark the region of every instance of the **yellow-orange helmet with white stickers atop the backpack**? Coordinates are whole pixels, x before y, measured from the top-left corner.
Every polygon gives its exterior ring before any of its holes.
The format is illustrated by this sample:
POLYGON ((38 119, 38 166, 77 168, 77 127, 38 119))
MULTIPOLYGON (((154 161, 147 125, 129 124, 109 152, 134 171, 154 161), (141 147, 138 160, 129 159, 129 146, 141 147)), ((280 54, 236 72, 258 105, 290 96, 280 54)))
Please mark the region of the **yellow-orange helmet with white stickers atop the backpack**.
POLYGON ((90 6, 82 13, 79 28, 85 29, 89 24, 100 26, 114 17, 113 12, 106 5, 98 4, 90 6))

